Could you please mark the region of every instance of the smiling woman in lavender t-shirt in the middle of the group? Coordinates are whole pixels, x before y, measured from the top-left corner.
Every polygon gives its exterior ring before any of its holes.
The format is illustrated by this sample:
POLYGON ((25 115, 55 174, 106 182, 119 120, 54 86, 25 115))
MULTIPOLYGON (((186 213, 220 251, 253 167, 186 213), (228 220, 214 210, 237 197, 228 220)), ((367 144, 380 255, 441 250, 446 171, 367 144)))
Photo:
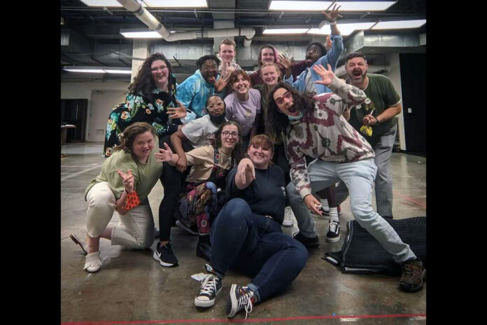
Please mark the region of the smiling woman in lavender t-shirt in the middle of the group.
POLYGON ((246 148, 250 138, 257 134, 257 121, 260 120, 260 92, 251 89, 250 85, 248 74, 241 69, 235 70, 228 81, 228 88, 232 93, 225 97, 225 117, 239 123, 242 148, 246 148))

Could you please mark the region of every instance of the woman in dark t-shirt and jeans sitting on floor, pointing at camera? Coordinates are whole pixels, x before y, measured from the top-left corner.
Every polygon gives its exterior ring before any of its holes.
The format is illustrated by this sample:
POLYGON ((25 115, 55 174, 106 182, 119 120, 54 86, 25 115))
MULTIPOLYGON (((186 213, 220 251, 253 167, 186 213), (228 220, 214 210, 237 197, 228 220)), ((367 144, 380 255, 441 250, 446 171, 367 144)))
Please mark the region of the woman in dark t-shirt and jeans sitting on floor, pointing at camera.
POLYGON ((231 318, 284 291, 306 265, 306 247, 281 230, 285 184, 281 168, 269 166, 273 148, 267 135, 253 137, 248 158, 227 177, 230 200, 211 226, 211 260, 195 297, 197 307, 215 304, 229 268, 253 278, 246 286, 232 284, 227 301, 231 318))

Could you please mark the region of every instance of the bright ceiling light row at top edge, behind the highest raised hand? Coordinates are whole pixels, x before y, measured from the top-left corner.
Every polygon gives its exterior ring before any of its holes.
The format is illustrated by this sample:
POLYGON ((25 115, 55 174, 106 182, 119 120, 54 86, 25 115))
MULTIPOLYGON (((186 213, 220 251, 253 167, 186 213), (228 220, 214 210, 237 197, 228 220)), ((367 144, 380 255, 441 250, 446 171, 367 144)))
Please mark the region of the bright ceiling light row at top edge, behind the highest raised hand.
MULTIPOLYGON (((339 11, 385 11, 396 1, 335 1, 339 11)), ((325 11, 332 1, 276 1, 272 0, 271 11, 325 11)), ((330 8, 331 10, 331 8, 330 8)))

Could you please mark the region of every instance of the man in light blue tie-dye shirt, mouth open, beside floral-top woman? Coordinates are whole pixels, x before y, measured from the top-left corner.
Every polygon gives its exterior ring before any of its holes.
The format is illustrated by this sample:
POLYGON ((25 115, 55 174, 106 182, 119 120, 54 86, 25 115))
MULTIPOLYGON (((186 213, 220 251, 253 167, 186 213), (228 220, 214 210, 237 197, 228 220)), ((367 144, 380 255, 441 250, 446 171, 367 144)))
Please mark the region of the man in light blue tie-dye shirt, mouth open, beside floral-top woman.
POLYGON ((206 115, 206 101, 223 88, 218 87, 218 64, 220 64, 220 60, 216 55, 200 57, 196 62, 199 69, 177 86, 176 99, 195 113, 195 115, 186 116, 183 123, 206 115))

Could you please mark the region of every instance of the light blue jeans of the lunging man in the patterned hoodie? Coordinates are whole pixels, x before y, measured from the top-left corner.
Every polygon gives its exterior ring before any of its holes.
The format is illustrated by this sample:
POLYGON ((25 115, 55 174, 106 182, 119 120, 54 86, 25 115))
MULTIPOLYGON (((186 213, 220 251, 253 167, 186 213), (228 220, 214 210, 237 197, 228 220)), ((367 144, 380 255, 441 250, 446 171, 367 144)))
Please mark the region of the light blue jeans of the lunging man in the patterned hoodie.
MULTIPOLYGON (((416 258, 408 244, 402 242, 395 230, 372 208, 372 186, 377 167, 374 159, 360 160, 353 163, 329 163, 320 159, 313 160, 308 166, 311 191, 316 193, 323 188, 343 181, 350 193, 350 206, 355 220, 365 228, 393 255, 394 261, 402 263, 416 258)), ((304 237, 315 237, 316 226, 311 212, 304 205, 301 195, 291 182, 286 187, 288 200, 294 212, 299 232, 304 237)))

